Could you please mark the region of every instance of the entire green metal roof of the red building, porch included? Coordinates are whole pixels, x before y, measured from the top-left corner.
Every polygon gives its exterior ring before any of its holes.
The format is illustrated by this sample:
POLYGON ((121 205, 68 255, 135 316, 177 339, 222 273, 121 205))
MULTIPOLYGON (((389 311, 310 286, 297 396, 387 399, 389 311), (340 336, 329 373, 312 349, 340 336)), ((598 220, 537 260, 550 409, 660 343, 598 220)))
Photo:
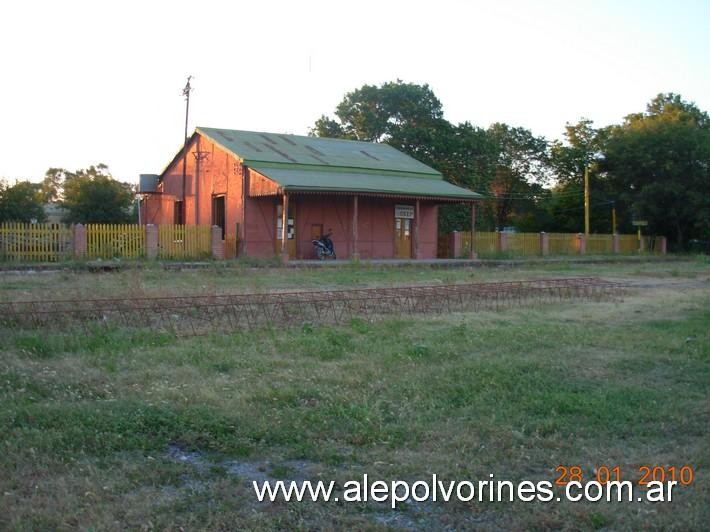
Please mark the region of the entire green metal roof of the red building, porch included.
POLYGON ((287 191, 482 197, 387 144, 208 127, 196 132, 287 191))

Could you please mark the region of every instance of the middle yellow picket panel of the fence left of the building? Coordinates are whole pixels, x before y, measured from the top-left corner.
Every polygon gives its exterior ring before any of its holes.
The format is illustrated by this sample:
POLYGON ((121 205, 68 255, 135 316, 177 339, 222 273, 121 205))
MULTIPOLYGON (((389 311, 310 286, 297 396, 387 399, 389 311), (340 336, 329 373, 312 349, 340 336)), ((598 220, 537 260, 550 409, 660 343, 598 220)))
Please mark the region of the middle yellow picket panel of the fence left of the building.
POLYGON ((87 224, 87 258, 138 259, 144 256, 145 226, 137 224, 87 224))

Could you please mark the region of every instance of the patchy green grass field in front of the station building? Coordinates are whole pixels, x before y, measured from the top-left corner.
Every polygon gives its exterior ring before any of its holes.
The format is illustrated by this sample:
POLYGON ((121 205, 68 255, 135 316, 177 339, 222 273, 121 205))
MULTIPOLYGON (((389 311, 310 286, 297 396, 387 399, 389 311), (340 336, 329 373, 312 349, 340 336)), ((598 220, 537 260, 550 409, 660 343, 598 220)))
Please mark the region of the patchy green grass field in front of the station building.
POLYGON ((676 529, 710 523, 710 264, 0 273, 0 301, 598 275, 622 302, 176 339, 0 330, 0 528, 676 529), (259 503, 249 481, 694 468, 670 503, 259 503))

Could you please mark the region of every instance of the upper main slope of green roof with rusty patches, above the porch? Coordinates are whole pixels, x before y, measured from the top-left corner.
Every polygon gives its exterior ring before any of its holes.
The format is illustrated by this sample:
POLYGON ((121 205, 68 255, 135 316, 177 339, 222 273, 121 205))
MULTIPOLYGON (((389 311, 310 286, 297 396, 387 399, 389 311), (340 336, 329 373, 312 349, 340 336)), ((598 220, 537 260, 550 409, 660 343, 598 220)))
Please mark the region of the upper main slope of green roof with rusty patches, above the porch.
POLYGON ((198 127, 197 131, 237 155, 247 166, 290 163, 441 176, 387 144, 209 127, 198 127))

